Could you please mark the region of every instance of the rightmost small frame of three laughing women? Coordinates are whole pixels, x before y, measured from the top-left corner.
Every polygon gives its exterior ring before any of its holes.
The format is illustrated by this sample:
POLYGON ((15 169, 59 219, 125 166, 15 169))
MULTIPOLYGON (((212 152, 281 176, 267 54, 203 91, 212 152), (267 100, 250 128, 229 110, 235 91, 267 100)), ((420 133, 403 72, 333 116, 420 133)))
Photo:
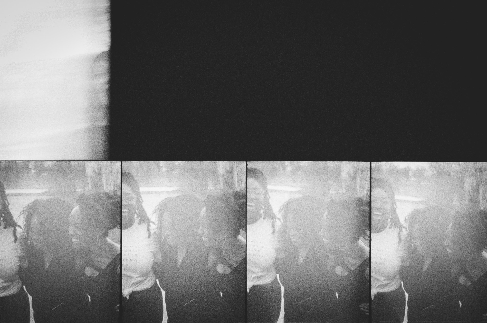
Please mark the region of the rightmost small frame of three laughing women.
POLYGON ((487 320, 487 163, 372 163, 373 322, 487 320))

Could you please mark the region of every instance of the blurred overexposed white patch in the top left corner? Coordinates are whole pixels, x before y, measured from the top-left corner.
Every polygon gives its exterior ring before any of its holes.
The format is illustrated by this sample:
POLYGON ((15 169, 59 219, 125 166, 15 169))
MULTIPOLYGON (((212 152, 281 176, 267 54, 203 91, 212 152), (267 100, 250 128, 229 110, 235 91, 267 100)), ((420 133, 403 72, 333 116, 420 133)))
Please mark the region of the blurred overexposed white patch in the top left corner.
POLYGON ((107 159, 109 0, 0 6, 0 159, 107 159))

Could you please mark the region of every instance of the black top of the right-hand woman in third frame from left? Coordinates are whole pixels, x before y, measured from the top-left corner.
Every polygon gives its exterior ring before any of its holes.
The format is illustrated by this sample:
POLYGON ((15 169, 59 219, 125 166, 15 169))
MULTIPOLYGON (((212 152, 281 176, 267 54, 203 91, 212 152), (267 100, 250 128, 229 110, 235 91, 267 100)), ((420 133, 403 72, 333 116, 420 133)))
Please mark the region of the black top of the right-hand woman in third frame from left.
MULTIPOLYGON (((369 322, 369 316, 360 310, 359 305, 369 303, 370 281, 366 275, 370 267, 370 258, 367 257, 360 265, 351 270, 343 261, 341 256, 336 257, 336 263, 330 269, 331 279, 334 282, 338 299, 333 308, 333 318, 338 322, 369 322), (348 275, 341 276, 335 271, 341 266, 348 271, 348 275)), ((369 304, 370 306, 370 304, 369 304)))

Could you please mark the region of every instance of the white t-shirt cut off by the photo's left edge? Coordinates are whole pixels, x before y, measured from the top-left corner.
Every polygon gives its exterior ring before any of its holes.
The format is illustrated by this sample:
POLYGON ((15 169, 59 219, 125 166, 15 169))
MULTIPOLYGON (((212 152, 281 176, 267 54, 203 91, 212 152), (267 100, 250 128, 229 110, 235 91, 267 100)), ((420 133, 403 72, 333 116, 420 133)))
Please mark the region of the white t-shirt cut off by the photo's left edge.
MULTIPOLYGON (((27 267, 28 259, 23 252, 20 239, 14 242, 13 228, 4 229, 0 221, 0 297, 10 296, 22 288, 19 267, 27 267)), ((17 230, 17 237, 20 230, 17 230)))

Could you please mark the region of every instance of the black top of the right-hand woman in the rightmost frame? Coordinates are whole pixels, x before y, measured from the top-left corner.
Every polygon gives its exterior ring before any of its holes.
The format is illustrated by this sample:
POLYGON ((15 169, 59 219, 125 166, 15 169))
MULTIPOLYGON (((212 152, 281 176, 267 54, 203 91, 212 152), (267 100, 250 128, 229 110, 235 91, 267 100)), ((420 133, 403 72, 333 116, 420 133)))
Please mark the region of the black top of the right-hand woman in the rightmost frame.
POLYGON ((467 322, 485 322, 482 314, 487 314, 487 272, 474 280, 466 268, 461 268, 453 275, 451 284, 460 307, 460 320, 467 322), (465 286, 459 282, 459 277, 465 276, 472 284, 465 286))

